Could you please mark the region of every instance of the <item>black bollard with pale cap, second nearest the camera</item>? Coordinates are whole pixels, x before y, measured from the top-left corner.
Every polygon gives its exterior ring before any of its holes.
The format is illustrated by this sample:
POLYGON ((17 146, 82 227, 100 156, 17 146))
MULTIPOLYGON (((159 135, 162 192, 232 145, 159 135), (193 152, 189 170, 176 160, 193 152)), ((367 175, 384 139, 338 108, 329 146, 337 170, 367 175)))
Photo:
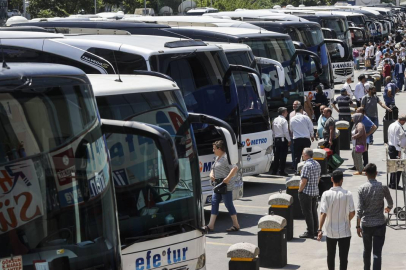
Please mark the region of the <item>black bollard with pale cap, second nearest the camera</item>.
POLYGON ((287 265, 286 219, 267 215, 258 222, 259 265, 266 268, 282 268, 287 265))

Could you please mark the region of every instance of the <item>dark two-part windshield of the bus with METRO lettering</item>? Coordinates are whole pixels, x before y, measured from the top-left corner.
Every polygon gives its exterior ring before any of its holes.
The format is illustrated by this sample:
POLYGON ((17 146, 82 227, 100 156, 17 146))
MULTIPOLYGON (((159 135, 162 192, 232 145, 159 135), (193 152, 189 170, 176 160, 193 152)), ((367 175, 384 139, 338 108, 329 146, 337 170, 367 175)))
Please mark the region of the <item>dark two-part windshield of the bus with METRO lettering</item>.
MULTIPOLYGON (((228 62, 234 65, 251 67, 255 58, 249 51, 226 52, 228 62)), ((269 130, 269 113, 266 100, 261 101, 255 91, 255 81, 247 73, 234 72, 240 104, 241 133, 249 134, 269 130)))

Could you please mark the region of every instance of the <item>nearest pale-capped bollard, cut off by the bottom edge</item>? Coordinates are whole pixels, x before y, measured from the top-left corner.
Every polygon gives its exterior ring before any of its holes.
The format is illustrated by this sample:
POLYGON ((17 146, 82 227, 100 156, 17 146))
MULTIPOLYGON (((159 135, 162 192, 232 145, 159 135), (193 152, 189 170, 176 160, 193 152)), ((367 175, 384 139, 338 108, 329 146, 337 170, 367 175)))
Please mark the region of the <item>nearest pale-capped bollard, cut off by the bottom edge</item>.
POLYGON ((259 248, 250 243, 237 243, 227 251, 229 270, 259 270, 259 248))

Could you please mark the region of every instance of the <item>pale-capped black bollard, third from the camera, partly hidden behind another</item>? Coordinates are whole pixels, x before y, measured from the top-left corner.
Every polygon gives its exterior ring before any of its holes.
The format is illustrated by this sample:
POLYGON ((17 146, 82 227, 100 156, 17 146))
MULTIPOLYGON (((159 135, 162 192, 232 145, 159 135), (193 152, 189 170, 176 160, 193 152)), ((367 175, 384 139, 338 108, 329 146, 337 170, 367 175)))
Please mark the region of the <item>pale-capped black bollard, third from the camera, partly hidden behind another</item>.
POLYGON ((279 193, 269 196, 268 204, 269 214, 275 214, 286 219, 286 237, 287 240, 293 239, 293 197, 289 194, 279 193))

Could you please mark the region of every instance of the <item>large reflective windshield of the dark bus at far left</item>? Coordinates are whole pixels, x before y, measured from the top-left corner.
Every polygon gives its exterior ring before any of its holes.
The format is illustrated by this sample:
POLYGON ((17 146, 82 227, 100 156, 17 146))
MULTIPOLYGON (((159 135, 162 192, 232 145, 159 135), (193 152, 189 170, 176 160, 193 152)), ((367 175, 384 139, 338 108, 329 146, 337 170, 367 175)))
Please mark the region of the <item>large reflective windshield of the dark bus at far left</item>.
POLYGON ((25 85, 0 83, 0 263, 117 269, 110 165, 91 87, 53 77, 25 85))

